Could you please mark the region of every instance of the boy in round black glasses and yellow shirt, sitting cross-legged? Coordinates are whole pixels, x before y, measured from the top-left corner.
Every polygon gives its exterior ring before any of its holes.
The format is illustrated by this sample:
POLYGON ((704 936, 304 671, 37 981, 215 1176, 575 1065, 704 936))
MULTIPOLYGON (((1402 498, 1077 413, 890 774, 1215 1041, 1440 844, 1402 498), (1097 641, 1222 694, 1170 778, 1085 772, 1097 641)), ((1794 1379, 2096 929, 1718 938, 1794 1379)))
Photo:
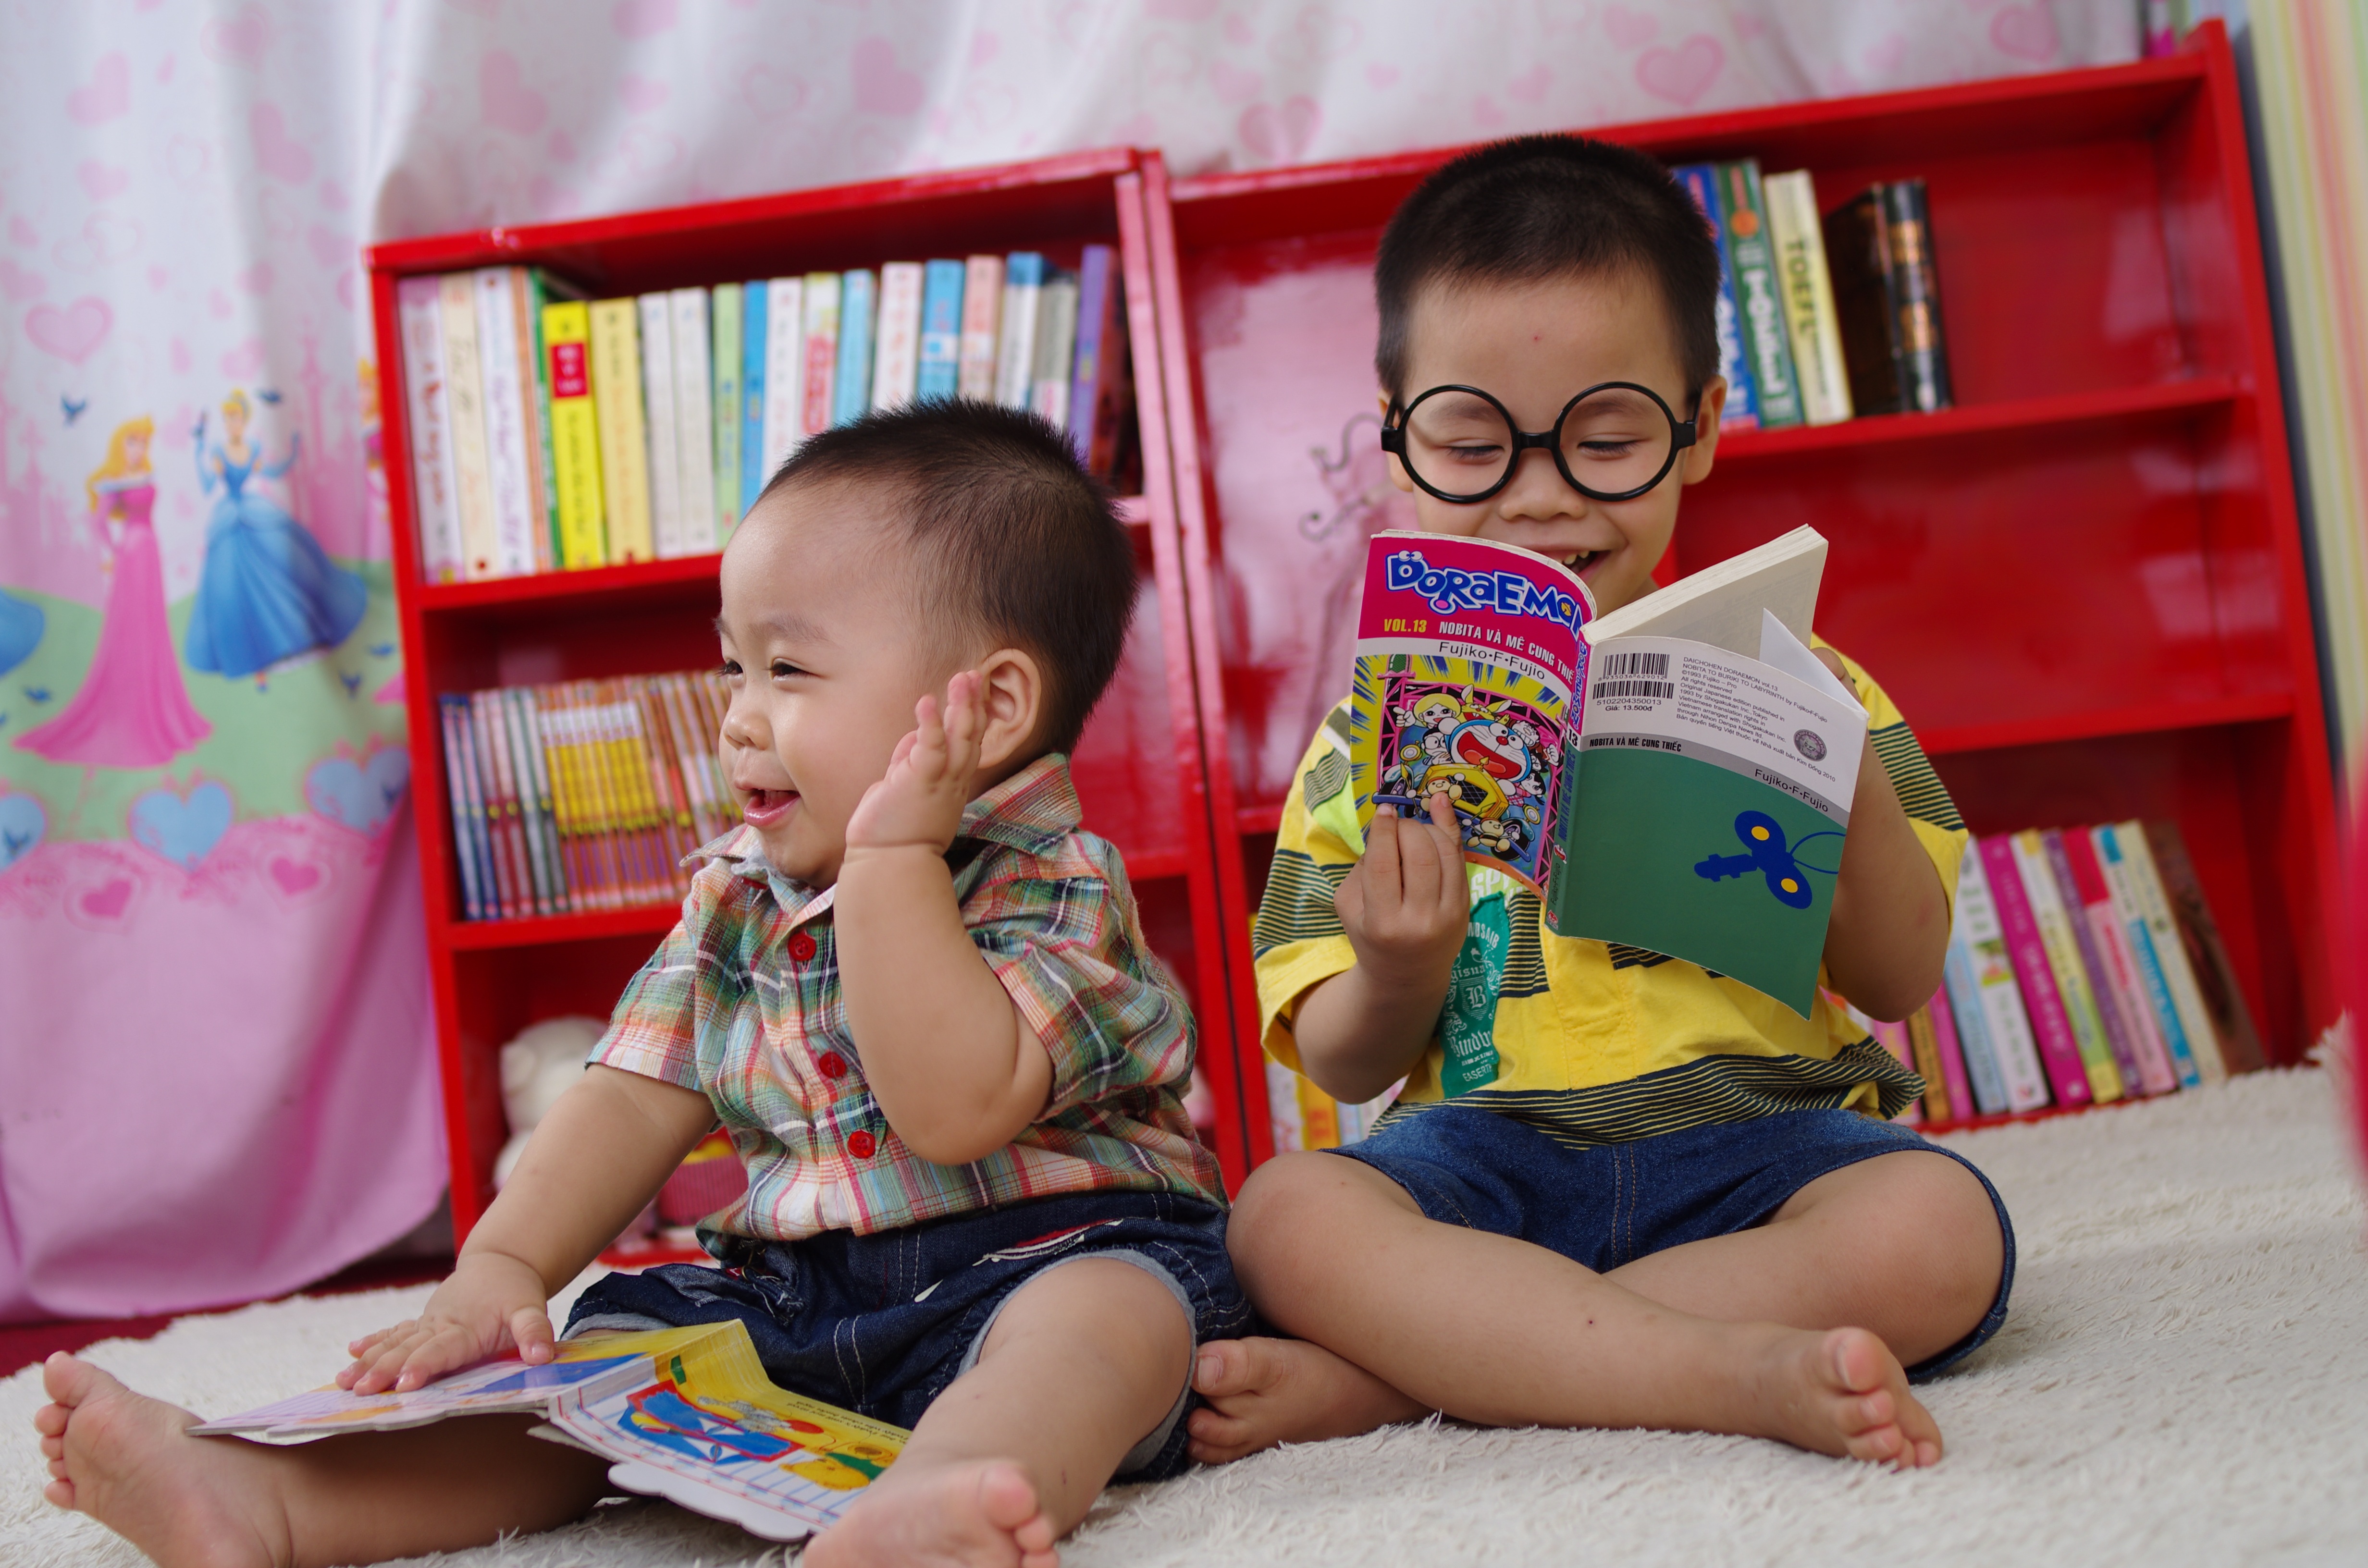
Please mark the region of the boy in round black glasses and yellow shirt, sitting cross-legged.
MULTIPOLYGON (((1563 561, 1598 613, 1653 592, 1726 398, 1717 246, 1669 173, 1579 137, 1466 154, 1390 220, 1373 287, 1385 448, 1421 528, 1563 561)), ((1880 687, 1819 656, 1880 763, 1859 770, 1823 981, 1904 1018, 1939 985, 1965 831, 1880 687)), ((1996 1334, 2015 1253, 1989 1180, 1883 1120, 1920 1080, 1823 997, 1800 1018, 1684 959, 1556 936, 1518 883, 1471 886, 1494 874, 1466 872, 1444 801, 1359 831, 1345 751, 1343 706, 1253 931, 1265 1045, 1340 1101, 1404 1092, 1364 1142, 1243 1187, 1234 1267, 1298 1338, 1203 1345, 1193 1454, 1437 1409, 1935 1464, 1909 1383, 1996 1334), (1447 1090, 1437 1021, 1482 891, 1511 917, 1480 1007, 1499 1071, 1447 1090)))

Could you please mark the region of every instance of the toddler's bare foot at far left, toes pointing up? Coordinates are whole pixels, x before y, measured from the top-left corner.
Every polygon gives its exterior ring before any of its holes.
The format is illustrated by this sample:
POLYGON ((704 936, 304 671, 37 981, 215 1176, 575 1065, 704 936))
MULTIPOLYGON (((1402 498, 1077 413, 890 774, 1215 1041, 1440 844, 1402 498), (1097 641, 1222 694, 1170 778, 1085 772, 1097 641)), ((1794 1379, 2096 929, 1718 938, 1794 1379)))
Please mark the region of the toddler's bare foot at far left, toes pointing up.
POLYGON ((50 1461, 43 1497, 140 1547, 163 1568, 268 1568, 289 1561, 284 1514, 239 1464, 244 1445, 187 1438, 187 1409, 137 1395, 64 1350, 40 1369, 54 1405, 33 1412, 50 1461))

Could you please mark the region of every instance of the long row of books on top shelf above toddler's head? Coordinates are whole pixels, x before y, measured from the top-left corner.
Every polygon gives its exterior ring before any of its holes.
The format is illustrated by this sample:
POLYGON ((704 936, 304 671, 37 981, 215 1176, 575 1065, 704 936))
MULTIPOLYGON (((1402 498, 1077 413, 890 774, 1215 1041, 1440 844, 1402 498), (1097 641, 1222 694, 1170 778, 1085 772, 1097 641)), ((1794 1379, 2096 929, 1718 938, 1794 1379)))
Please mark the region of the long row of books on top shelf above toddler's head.
POLYGON ((1125 488, 1118 256, 890 261, 635 298, 542 268, 395 284, 429 583, 722 550, 798 445, 876 407, 1032 407, 1125 488))

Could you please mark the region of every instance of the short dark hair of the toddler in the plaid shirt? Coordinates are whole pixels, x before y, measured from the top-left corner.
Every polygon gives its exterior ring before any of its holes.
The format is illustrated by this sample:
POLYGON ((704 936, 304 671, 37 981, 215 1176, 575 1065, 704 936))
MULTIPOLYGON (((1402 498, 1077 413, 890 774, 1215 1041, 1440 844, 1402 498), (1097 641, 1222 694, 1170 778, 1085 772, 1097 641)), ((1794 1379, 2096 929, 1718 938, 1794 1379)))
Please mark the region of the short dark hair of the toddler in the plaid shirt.
POLYGON ((931 398, 807 438, 765 495, 815 483, 897 493, 928 621, 1035 654, 1037 741, 1070 751, 1118 673, 1137 576, 1111 493, 1068 436, 1025 410, 931 398))

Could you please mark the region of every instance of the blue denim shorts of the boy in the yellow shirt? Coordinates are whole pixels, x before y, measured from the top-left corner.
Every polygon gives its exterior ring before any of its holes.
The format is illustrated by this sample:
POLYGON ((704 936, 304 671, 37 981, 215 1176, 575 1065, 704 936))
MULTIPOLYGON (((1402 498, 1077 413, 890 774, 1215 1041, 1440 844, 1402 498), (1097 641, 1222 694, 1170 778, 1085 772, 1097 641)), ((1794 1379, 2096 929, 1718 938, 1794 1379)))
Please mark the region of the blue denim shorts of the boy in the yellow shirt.
POLYGON ((1781 1111, 1627 1144, 1565 1149, 1497 1111, 1423 1106, 1373 1137, 1331 1149, 1407 1189, 1430 1220, 1516 1236, 1598 1274, 1662 1248, 1764 1225, 1821 1175, 1902 1151, 1942 1153, 1973 1170, 1999 1210, 2006 1260, 1999 1298, 1973 1334, 1909 1367, 1923 1383, 1973 1355, 2006 1322, 2015 1227, 1973 1161, 1909 1127, 1857 1111, 1781 1111))

